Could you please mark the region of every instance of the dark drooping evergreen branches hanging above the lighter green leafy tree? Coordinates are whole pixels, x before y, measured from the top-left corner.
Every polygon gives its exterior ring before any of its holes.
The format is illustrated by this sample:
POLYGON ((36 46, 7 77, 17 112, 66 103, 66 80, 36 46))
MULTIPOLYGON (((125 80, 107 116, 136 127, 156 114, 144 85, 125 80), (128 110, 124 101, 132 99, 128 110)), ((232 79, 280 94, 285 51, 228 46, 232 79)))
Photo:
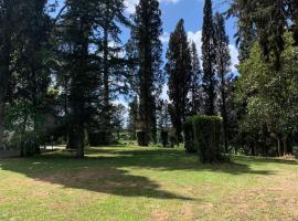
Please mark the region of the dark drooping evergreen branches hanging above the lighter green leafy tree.
POLYGON ((273 55, 274 69, 279 70, 280 55, 285 48, 284 33, 291 31, 296 44, 298 43, 297 8, 296 0, 234 0, 228 14, 238 18, 241 33, 254 31, 266 60, 269 61, 273 55))

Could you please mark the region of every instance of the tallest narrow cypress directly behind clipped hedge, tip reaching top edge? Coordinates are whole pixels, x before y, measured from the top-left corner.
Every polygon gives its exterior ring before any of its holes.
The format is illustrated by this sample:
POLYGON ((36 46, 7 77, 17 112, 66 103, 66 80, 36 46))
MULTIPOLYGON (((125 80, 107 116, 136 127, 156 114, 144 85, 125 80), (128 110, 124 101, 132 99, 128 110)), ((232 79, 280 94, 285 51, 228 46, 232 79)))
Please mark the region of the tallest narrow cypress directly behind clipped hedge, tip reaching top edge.
POLYGON ((203 60, 203 88, 205 99, 205 114, 215 114, 216 80, 215 80, 215 51, 214 51, 214 23, 212 14, 212 1, 205 0, 204 19, 202 30, 202 60, 203 60))

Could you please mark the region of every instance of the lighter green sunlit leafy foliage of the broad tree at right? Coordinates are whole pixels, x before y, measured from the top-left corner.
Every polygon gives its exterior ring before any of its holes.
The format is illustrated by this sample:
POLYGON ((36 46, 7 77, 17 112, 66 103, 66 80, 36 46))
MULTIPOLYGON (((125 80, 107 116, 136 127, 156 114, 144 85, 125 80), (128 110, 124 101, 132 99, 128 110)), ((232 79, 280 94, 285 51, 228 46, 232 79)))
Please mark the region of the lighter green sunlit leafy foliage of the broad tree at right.
MULTIPOLYGON (((280 143, 297 133, 298 120, 298 63, 297 48, 292 39, 285 35, 285 51, 280 55, 283 66, 275 70, 275 57, 264 62, 262 49, 255 44, 249 59, 240 65, 241 77, 236 84, 236 102, 246 104, 246 114, 240 122, 243 133, 254 135, 252 139, 267 134, 280 143)), ((287 147, 284 147, 284 154, 287 147)), ((278 150, 281 154, 280 149, 278 150)))

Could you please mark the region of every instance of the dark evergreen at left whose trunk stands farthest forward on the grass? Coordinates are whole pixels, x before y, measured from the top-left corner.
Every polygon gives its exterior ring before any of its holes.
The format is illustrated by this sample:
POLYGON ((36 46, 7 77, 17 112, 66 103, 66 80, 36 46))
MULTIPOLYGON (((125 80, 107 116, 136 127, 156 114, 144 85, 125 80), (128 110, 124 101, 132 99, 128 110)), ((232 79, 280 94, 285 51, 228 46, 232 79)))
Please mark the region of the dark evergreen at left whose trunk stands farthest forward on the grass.
POLYGON ((62 15, 62 40, 58 50, 70 71, 70 115, 72 134, 70 140, 76 148, 76 157, 84 157, 86 125, 91 118, 91 107, 98 84, 98 63, 92 43, 96 42, 99 27, 100 2, 67 0, 66 13, 62 15))

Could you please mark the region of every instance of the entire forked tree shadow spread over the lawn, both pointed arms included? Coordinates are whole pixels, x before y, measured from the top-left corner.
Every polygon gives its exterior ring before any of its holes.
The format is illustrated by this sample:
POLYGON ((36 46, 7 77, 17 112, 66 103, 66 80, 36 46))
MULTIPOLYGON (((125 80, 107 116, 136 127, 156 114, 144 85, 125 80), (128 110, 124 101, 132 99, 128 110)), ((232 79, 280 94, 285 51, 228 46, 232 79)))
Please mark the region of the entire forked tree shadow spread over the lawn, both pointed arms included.
POLYGON ((36 181, 65 188, 91 190, 123 197, 155 199, 200 200, 162 190, 161 186, 145 176, 129 172, 127 168, 162 171, 192 170, 231 175, 272 175, 273 171, 252 170, 249 165, 199 165, 196 156, 164 149, 91 149, 86 159, 74 159, 70 152, 45 154, 29 159, 0 160, 2 170, 23 173, 36 181), (109 156, 106 156, 109 155, 109 156))

